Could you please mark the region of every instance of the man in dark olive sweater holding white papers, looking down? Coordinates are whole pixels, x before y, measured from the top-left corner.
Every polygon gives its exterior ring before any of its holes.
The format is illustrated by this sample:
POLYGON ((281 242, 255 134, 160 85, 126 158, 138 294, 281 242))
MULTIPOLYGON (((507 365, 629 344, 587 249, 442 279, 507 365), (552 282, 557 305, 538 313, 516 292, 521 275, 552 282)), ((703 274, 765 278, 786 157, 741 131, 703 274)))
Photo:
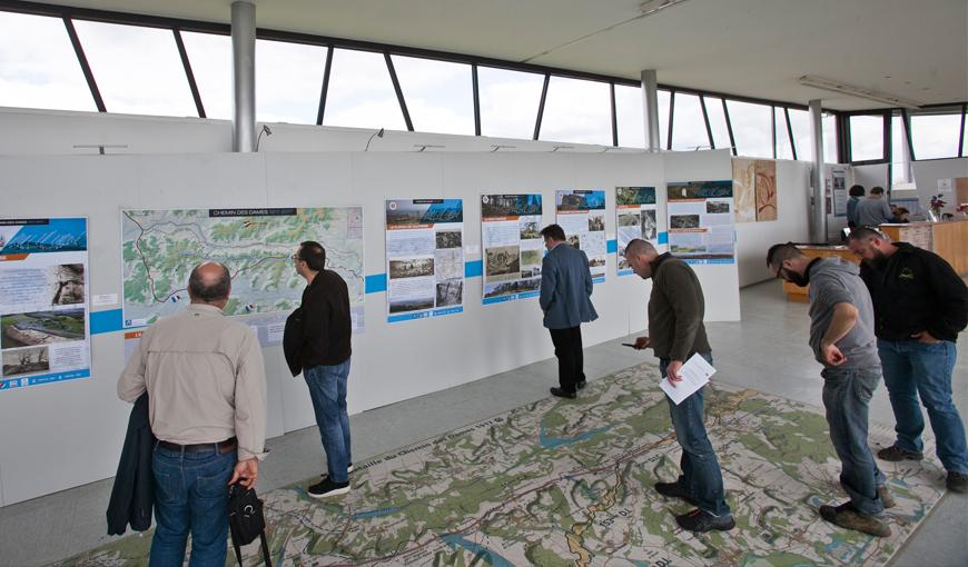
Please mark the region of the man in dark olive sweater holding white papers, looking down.
POLYGON ((651 347, 659 358, 663 381, 669 382, 663 389, 672 426, 682 447, 682 475, 674 483, 656 483, 655 490, 697 507, 675 516, 675 521, 684 529, 695 533, 732 529, 735 521, 725 503, 722 471, 703 424, 702 394, 713 370, 712 351, 702 324, 705 311, 702 287, 688 263, 668 252, 660 255, 645 240, 636 238, 629 242, 625 259, 642 279, 652 279, 649 336, 635 339, 635 348, 651 347), (695 391, 680 396, 679 388, 695 391), (676 402, 673 396, 683 399, 676 402))

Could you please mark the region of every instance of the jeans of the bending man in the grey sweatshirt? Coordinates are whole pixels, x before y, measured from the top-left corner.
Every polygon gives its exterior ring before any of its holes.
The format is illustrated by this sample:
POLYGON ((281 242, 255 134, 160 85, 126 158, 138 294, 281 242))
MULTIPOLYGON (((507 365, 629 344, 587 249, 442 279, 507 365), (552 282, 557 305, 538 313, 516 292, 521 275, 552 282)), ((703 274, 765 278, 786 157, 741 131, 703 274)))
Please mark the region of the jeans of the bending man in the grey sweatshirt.
POLYGON ((830 441, 840 457, 840 486, 858 511, 878 516, 883 503, 877 487, 887 478, 867 445, 867 415, 880 368, 824 368, 821 376, 830 441))

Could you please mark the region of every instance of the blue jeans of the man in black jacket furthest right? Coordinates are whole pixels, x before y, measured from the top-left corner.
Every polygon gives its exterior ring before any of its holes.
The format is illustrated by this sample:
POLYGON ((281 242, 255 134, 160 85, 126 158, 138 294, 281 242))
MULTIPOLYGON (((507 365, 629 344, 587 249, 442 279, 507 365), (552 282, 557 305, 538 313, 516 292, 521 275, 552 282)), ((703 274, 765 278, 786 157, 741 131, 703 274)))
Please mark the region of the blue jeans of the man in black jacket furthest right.
POLYGON ((920 395, 937 439, 938 458, 945 469, 968 474, 965 425, 951 399, 951 372, 958 356, 955 344, 947 340, 927 345, 917 340, 878 339, 877 348, 897 421, 898 440, 895 444, 901 449, 923 450, 925 417, 918 402, 920 395))

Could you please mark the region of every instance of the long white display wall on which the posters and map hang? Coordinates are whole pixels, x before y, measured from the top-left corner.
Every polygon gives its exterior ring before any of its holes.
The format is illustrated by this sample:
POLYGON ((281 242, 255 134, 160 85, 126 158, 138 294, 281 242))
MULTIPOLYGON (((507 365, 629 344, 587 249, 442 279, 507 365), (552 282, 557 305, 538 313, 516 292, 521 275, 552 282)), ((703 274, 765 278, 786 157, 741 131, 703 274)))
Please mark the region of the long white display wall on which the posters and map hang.
MULTIPOLYGON (((89 295, 120 294, 121 208, 364 207, 365 268, 384 271, 386 198, 462 198, 465 247, 478 247, 482 193, 541 192, 543 221, 554 221, 555 189, 604 189, 608 238, 614 239, 616 186, 654 186, 665 231, 665 179, 729 179, 728 152, 648 153, 204 153, 0 158, 4 217, 87 216, 89 295), (666 162, 674 165, 673 177, 666 162)), ((294 242, 294 248, 296 243, 294 242)), ((697 266, 708 320, 738 320, 737 266, 697 266), (731 289, 730 289, 731 288, 731 289)), ((553 356, 535 298, 484 306, 482 278, 467 279, 462 315, 389 325, 384 295, 369 294, 365 330, 354 337, 349 409, 421 396, 553 356)), ((645 328, 650 284, 615 275, 593 301, 600 319, 586 345, 645 328)), ((120 306, 110 306, 115 309, 120 306)), ((0 395, 0 505, 115 474, 130 406, 118 400, 122 332, 95 335, 91 378, 0 395)), ((314 425, 302 378, 289 376, 280 347, 264 349, 269 437, 314 425)))

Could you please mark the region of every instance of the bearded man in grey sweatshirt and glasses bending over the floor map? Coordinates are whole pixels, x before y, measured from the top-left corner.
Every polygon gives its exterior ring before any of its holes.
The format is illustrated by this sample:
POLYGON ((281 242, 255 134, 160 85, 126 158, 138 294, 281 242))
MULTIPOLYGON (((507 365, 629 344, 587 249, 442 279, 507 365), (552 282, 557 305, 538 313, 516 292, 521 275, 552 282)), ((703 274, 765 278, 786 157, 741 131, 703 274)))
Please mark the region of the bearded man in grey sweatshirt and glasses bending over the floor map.
POLYGON ((841 462, 840 486, 850 496, 840 506, 821 506, 820 516, 848 529, 890 536, 883 510, 893 498, 867 445, 868 406, 881 377, 870 294, 856 265, 808 258, 792 242, 773 245, 767 266, 778 278, 810 286, 810 347, 823 365, 830 440, 841 462))

